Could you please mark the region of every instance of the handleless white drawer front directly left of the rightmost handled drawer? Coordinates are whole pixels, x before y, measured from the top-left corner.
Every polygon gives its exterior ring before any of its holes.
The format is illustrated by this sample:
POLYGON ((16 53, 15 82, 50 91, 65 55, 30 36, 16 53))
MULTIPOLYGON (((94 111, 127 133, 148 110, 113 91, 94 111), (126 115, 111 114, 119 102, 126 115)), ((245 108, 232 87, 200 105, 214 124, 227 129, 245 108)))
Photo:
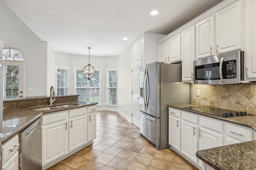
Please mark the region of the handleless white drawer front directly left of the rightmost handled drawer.
POLYGON ((206 127, 207 129, 214 130, 216 132, 223 133, 223 123, 208 119, 206 117, 200 117, 200 125, 206 127))

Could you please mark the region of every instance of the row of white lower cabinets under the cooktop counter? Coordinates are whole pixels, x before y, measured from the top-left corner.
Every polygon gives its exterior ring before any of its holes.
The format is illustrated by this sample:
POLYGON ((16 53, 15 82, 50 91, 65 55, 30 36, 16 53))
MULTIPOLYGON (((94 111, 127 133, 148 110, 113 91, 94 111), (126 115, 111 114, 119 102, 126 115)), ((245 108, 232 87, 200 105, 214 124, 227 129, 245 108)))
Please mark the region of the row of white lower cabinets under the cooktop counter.
POLYGON ((202 170, 212 168, 196 157, 196 151, 252 141, 254 135, 248 127, 169 107, 169 144, 202 170))

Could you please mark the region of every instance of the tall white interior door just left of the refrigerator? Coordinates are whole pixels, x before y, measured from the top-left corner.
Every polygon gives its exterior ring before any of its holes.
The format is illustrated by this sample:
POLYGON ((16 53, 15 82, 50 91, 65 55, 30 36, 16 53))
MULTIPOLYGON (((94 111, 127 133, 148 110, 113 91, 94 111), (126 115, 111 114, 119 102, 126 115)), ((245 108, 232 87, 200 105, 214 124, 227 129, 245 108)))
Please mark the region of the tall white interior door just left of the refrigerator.
POLYGON ((140 128, 140 66, 141 59, 132 62, 132 123, 140 128))

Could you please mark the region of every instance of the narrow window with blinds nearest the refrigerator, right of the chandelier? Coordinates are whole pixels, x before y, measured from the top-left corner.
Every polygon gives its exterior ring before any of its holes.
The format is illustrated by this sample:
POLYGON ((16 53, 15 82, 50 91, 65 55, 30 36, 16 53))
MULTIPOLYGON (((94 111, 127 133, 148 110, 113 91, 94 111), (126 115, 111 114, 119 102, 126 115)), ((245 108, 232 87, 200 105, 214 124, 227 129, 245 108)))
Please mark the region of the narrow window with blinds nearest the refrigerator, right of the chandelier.
POLYGON ((117 106, 117 69, 107 69, 106 105, 117 106))

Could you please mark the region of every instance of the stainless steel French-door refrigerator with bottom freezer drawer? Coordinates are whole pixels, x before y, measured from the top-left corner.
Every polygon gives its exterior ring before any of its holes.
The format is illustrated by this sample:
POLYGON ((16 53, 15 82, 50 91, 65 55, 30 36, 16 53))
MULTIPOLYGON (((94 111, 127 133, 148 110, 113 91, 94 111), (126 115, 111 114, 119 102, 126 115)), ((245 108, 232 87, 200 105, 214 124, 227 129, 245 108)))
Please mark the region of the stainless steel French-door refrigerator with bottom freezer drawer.
POLYGON ((189 83, 181 82, 181 64, 158 62, 140 67, 140 133, 165 149, 168 145, 168 104, 189 103, 189 83))

